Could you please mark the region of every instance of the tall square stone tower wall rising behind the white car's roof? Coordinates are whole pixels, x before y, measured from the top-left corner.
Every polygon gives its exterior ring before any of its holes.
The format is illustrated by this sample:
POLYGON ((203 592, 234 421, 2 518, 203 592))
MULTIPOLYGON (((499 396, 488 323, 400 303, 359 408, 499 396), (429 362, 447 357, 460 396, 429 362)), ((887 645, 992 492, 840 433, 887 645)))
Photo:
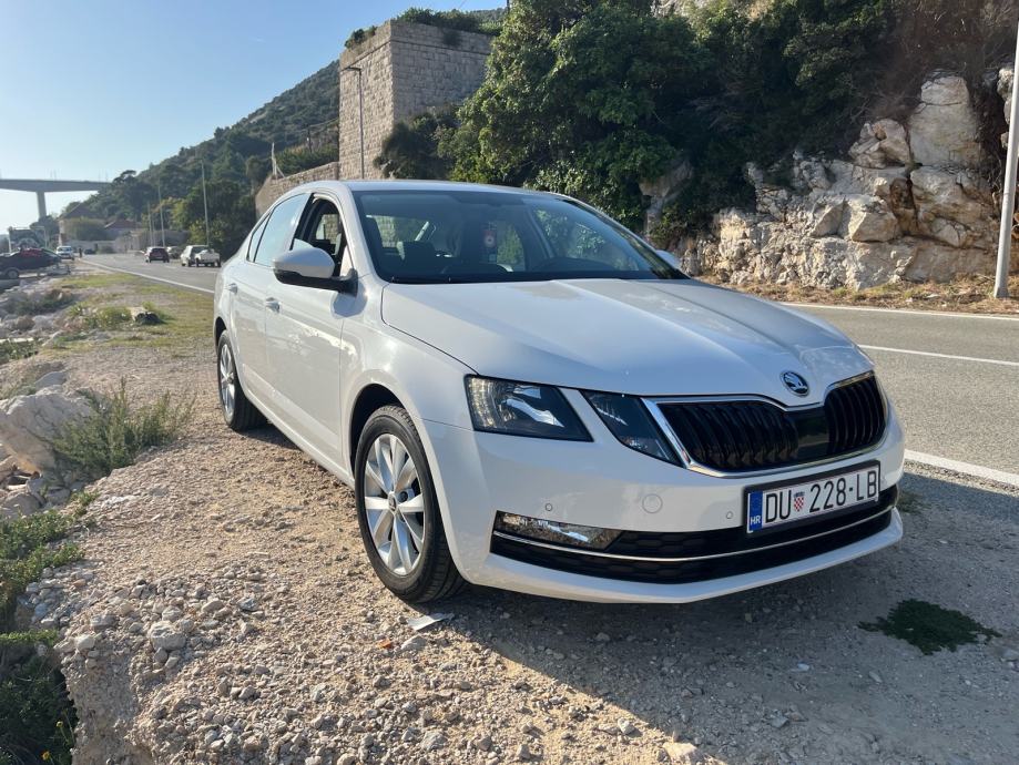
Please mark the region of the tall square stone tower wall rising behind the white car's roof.
POLYGON ((361 177, 363 160, 364 177, 380 177, 373 161, 393 126, 473 93, 485 78, 490 44, 486 34, 387 21, 359 45, 345 51, 339 59, 340 177, 361 177))

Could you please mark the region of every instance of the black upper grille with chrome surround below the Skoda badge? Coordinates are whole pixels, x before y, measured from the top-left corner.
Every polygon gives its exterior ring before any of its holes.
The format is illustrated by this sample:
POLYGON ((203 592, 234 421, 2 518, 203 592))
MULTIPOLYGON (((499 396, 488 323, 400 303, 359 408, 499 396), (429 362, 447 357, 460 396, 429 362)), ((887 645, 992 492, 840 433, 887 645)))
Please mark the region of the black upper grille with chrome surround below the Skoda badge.
POLYGON ((833 388, 823 406, 786 410, 767 401, 659 404, 694 461, 722 471, 765 470, 866 449, 885 432, 873 375, 833 388))

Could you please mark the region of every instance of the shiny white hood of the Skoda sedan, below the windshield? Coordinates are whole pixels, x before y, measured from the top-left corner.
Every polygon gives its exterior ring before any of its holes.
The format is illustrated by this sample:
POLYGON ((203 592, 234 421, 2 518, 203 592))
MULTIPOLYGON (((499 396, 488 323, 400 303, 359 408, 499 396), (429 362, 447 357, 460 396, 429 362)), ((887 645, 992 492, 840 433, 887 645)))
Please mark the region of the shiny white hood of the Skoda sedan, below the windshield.
POLYGON ((794 406, 870 368, 827 323, 694 279, 390 284, 383 319, 480 375, 632 395, 794 406), (787 370, 806 398, 786 389, 787 370))

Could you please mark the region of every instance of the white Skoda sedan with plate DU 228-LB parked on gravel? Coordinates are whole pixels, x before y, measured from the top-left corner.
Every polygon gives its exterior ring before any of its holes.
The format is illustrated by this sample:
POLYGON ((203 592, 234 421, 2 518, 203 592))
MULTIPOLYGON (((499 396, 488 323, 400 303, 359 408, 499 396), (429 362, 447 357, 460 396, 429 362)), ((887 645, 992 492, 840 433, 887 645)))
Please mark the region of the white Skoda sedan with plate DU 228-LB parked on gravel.
POLYGON ((264 416, 350 484, 408 601, 685 602, 903 533, 869 359, 568 197, 299 186, 223 267, 215 339, 226 422, 264 416))

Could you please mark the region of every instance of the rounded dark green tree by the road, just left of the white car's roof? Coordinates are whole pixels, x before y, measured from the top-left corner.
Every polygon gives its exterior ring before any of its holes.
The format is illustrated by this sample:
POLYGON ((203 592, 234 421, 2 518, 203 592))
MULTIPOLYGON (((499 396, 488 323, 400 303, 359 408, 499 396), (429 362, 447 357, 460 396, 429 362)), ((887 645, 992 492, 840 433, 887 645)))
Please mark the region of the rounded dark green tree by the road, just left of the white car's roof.
MULTIPOLYGON (((213 180, 206 183, 208 197, 208 242, 224 257, 230 257, 255 223, 255 205, 245 186, 235 181, 213 180)), ((174 221, 187 228, 192 242, 205 242, 205 207, 202 184, 195 184, 173 210, 174 221)))

